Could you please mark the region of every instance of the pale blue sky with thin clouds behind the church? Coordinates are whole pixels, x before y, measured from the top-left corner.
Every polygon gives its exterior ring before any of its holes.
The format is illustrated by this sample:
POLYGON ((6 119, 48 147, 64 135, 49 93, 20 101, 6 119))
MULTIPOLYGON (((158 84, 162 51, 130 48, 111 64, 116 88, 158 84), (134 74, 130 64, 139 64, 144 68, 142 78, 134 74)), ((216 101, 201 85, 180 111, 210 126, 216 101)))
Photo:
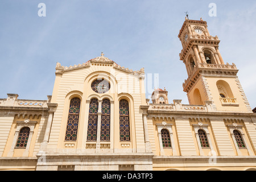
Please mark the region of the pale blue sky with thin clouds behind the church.
POLYGON ((57 61, 82 64, 104 52, 125 68, 159 74, 169 101, 188 104, 177 38, 185 11, 190 19, 208 22, 210 34, 221 40, 225 63, 240 69, 243 89, 256 107, 255 1, 1 0, 0 98, 18 93, 20 99, 47 100, 57 61), (38 16, 39 3, 46 4, 46 17, 38 16), (209 3, 216 3, 216 17, 208 14, 209 3))

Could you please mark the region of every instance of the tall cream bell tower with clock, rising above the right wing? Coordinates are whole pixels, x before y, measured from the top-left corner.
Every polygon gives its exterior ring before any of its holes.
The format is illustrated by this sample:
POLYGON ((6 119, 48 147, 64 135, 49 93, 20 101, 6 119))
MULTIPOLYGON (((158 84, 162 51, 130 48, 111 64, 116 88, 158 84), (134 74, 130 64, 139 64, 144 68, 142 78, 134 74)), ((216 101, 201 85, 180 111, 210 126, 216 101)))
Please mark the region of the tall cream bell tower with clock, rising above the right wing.
POLYGON ((210 35, 207 22, 186 17, 178 37, 183 47, 180 60, 188 73, 183 89, 189 104, 212 101, 217 110, 251 112, 238 80, 238 69, 234 63, 224 63, 218 49, 220 40, 210 35))

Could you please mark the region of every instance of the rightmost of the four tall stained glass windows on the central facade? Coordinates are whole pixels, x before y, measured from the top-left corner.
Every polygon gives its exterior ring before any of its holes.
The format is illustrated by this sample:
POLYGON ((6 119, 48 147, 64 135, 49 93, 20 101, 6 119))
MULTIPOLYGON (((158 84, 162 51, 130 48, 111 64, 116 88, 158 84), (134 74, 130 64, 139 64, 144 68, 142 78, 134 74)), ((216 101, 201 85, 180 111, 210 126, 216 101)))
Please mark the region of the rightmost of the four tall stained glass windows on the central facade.
POLYGON ((130 141, 129 102, 126 100, 119 102, 119 124, 120 140, 130 141))

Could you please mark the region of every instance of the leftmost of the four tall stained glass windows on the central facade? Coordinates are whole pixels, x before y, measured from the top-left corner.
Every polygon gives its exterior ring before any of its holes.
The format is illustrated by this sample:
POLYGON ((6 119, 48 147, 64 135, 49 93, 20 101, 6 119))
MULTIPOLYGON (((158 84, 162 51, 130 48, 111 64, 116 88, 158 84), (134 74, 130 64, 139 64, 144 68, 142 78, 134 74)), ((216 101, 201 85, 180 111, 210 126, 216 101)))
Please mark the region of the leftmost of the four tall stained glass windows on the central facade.
POLYGON ((68 114, 68 124, 65 140, 66 141, 76 141, 77 139, 77 129, 79 125, 79 114, 80 114, 80 98, 72 98, 69 106, 68 114))

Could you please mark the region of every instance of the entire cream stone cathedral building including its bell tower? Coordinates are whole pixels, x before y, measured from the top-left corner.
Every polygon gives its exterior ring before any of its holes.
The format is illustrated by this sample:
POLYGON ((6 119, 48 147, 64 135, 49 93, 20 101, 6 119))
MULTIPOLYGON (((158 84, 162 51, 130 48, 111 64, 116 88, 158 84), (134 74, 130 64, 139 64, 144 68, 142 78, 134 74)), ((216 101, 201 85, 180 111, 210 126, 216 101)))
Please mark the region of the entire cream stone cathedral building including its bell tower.
POLYGON ((144 68, 102 53, 56 64, 52 96, 0 99, 0 169, 53 171, 256 170, 256 114, 235 64, 224 62, 207 22, 178 35, 189 105, 144 90, 144 68))

